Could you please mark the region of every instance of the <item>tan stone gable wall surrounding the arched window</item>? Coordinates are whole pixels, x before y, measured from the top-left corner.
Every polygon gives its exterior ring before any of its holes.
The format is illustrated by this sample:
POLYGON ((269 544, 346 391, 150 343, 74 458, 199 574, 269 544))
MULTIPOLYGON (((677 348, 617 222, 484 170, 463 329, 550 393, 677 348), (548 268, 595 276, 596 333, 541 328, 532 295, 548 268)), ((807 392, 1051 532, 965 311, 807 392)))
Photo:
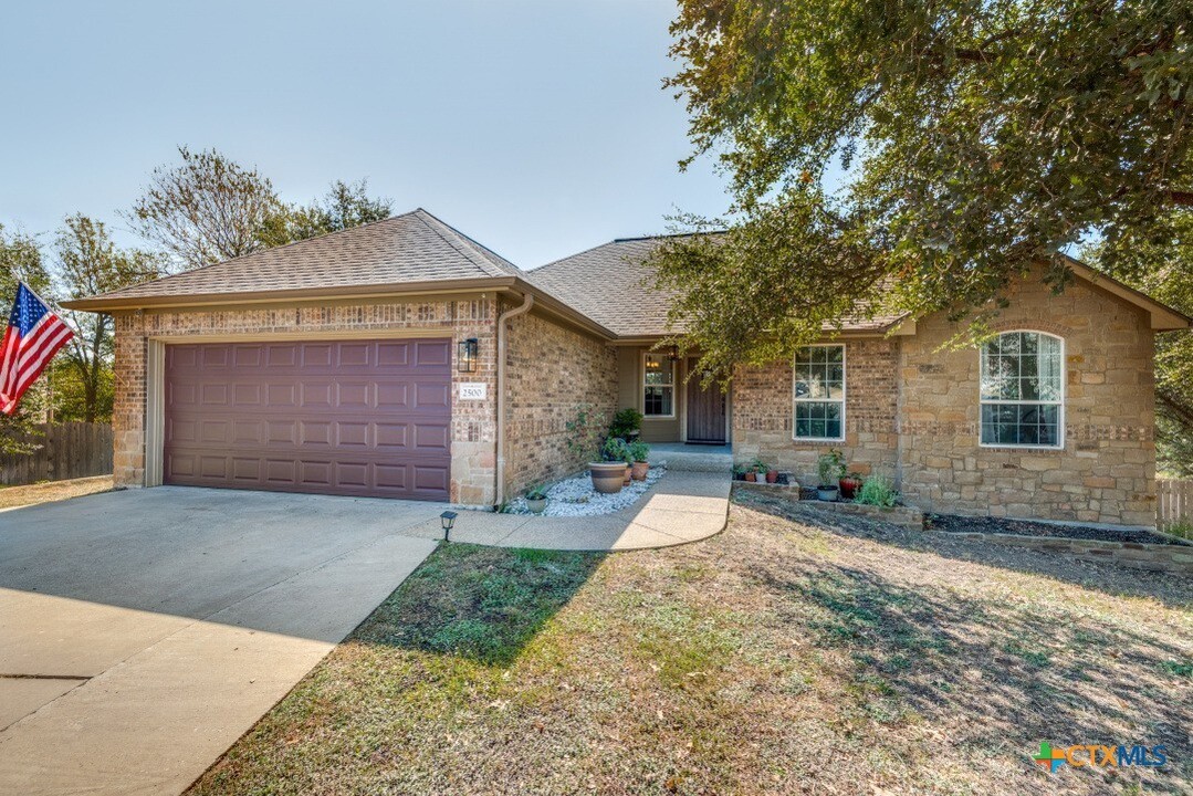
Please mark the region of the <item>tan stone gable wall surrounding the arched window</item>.
POLYGON ((902 489, 927 511, 1154 525, 1154 333, 1132 304, 1076 280, 1014 285, 995 328, 1064 339, 1064 448, 978 445, 978 353, 941 350, 944 314, 903 339, 902 489))

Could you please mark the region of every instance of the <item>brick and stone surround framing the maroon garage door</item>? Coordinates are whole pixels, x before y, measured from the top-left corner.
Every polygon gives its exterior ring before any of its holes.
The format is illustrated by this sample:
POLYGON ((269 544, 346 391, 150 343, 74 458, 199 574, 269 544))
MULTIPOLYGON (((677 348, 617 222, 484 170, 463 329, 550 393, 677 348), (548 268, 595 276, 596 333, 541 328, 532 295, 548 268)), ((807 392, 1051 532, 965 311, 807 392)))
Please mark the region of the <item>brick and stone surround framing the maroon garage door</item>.
MULTIPOLYGON (((452 356, 459 340, 477 338, 480 364, 460 374, 452 363, 453 384, 484 382, 487 401, 462 402, 452 395, 451 500, 492 505, 496 475, 496 343, 494 300, 387 302, 367 304, 291 306, 267 309, 162 310, 116 315, 115 479, 117 486, 137 487, 146 477, 146 356, 149 338, 329 332, 382 333, 389 329, 426 331, 450 335, 452 356)), ((258 338, 260 339, 260 338, 258 338)))

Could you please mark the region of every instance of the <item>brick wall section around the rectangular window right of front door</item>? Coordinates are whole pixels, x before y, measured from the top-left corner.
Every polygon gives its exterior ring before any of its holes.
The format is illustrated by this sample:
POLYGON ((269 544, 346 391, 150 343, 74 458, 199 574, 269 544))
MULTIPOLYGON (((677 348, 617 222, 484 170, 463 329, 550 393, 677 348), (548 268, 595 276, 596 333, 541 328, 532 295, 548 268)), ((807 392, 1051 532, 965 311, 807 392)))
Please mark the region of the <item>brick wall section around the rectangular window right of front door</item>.
POLYGON ((777 362, 741 369, 733 384, 734 461, 755 457, 815 486, 816 458, 840 448, 849 469, 895 475, 898 433, 898 338, 845 343, 845 442, 797 443, 791 438, 792 368, 777 362))

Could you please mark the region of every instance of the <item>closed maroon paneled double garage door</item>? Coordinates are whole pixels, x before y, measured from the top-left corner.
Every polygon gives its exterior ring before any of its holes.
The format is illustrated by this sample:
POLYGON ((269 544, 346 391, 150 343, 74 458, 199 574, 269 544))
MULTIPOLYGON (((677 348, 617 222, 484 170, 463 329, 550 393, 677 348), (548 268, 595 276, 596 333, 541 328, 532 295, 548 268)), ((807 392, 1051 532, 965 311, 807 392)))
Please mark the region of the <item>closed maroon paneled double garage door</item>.
POLYGON ((447 500, 447 340, 166 346, 166 483, 447 500))

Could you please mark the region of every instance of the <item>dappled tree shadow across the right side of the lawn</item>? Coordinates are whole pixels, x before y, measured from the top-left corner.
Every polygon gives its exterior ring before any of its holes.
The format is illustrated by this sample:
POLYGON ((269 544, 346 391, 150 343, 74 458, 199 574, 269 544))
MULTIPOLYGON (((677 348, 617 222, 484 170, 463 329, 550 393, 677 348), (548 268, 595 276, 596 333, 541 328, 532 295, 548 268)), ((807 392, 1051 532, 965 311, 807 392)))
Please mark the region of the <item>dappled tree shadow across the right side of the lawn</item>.
MULTIPOLYGON (((885 524, 854 527, 821 512, 769 501, 748 505, 841 537, 1058 578, 1052 566, 926 543, 915 532, 880 526, 885 524)), ((889 563, 877 572, 852 556, 849 566, 833 555, 792 556, 762 562, 754 573, 755 582, 787 606, 784 621, 804 624, 817 646, 853 660, 852 693, 860 721, 897 722, 919 715, 952 728, 945 742, 989 748, 991 754, 1006 754, 1012 747, 1027 757, 1044 740, 1059 746, 1164 745, 1169 764, 1144 775, 1146 784, 1186 792, 1193 776, 1188 647, 1173 643, 1156 627, 1132 624, 1131 616, 1111 618, 1105 606, 1080 601, 1053 606, 1047 593, 1024 593, 1019 599, 1014 584, 1007 590, 1010 596, 999 588, 983 597, 972 588, 977 580, 951 581, 942 574, 935 581, 923 578, 922 569, 904 580, 900 569, 904 562, 889 563)), ((1098 574, 1092 582, 1061 579, 1099 588, 1098 574)), ((1139 579, 1130 590, 1115 582, 1108 591, 1157 597, 1149 581, 1139 579)), ((1101 773, 1109 782, 1127 771, 1101 773)))

